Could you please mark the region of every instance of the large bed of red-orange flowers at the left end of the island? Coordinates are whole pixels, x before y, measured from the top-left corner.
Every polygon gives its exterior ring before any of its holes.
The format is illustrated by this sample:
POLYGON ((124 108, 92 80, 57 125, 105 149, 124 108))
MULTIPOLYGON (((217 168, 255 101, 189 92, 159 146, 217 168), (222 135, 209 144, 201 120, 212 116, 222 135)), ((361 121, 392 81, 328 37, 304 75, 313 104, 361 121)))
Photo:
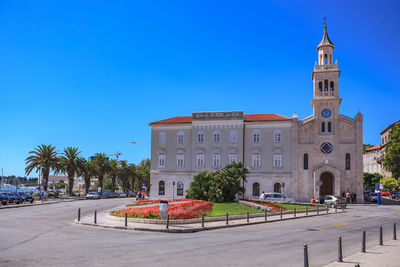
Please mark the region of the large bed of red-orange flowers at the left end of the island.
MULTIPOLYGON (((210 211, 212 209, 212 205, 213 204, 211 202, 204 200, 186 199, 186 202, 183 203, 170 204, 168 207, 168 214, 172 220, 199 218, 202 214, 206 214, 207 211, 210 211)), ((112 215, 124 217, 125 213, 128 214, 129 218, 161 219, 160 207, 158 205, 151 207, 137 207, 136 205, 136 207, 127 207, 123 210, 114 211, 112 212, 112 215)))

